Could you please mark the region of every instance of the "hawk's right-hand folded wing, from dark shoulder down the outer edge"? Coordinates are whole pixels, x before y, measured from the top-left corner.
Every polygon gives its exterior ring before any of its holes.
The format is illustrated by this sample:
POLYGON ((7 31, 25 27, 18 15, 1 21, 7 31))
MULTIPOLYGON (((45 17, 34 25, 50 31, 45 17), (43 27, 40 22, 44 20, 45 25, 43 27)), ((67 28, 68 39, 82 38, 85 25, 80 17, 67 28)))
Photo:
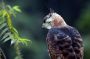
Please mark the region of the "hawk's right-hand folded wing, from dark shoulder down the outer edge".
POLYGON ((83 40, 77 29, 68 26, 62 29, 65 34, 71 37, 72 47, 76 55, 76 59, 83 59, 83 40))

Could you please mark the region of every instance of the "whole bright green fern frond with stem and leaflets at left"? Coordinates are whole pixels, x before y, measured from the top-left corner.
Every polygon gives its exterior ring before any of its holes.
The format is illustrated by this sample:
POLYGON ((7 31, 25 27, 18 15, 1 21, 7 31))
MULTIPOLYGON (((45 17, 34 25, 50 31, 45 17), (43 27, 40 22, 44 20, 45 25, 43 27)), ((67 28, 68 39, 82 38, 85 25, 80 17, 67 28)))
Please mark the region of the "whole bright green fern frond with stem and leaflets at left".
POLYGON ((11 44, 14 44, 17 53, 15 59, 23 59, 20 53, 20 44, 28 46, 31 41, 20 37, 18 31, 12 24, 11 17, 16 17, 18 12, 21 12, 21 10, 17 5, 11 7, 10 5, 6 5, 4 2, 0 4, 0 43, 5 43, 11 40, 11 44))

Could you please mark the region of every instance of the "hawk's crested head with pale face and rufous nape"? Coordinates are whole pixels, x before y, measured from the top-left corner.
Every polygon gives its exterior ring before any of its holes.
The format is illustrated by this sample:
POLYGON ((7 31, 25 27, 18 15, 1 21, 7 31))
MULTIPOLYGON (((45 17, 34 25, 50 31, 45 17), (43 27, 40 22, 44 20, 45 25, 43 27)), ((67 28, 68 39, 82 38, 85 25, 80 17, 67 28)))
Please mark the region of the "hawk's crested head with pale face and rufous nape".
POLYGON ((44 22, 42 27, 51 29, 51 28, 58 28, 58 27, 63 27, 66 26, 67 24, 65 23, 64 19, 54 12, 53 10, 50 10, 50 13, 44 17, 44 22))

